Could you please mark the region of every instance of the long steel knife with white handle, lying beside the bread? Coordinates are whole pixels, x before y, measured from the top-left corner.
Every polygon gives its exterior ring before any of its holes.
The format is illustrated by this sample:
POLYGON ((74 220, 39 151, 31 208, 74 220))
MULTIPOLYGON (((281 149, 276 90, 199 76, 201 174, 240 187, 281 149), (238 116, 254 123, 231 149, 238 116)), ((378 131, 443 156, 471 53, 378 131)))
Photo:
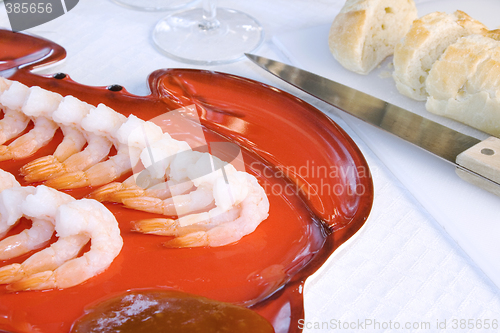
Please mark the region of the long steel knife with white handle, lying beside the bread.
POLYGON ((500 196, 499 138, 481 141, 314 73, 245 55, 308 94, 452 163, 460 178, 500 196))

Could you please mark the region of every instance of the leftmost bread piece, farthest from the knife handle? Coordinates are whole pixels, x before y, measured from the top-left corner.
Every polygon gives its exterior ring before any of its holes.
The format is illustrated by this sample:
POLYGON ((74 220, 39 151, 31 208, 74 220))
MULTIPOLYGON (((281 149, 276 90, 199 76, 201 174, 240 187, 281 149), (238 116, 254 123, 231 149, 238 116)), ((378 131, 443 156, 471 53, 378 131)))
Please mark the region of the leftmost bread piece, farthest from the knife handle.
POLYGON ((330 28, 330 51, 345 68, 368 74, 416 18, 413 0, 347 0, 330 28))

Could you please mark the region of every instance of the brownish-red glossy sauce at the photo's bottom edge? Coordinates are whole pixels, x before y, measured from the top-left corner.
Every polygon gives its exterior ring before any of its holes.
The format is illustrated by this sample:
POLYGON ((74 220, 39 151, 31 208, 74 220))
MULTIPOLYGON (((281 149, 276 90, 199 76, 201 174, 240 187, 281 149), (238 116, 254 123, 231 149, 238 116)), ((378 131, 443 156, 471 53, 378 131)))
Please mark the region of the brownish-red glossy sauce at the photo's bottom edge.
POLYGON ((255 311, 178 291, 133 291, 86 310, 71 333, 273 333, 255 311))

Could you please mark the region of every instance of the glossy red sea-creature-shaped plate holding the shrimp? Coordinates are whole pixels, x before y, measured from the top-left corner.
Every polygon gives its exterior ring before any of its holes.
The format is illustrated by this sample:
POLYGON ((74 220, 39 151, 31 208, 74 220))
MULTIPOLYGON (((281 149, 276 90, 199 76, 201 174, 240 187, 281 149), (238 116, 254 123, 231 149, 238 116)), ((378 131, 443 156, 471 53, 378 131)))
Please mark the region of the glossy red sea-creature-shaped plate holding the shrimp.
MULTIPOLYGON (((124 239, 109 269, 65 290, 9 293, 0 286, 0 330, 66 333, 91 304, 127 290, 175 289, 249 306, 277 332, 300 332, 306 278, 362 227, 372 206, 368 165, 351 138, 302 100, 234 75, 158 70, 148 79, 151 95, 141 97, 117 86, 83 86, 60 73, 31 73, 64 57, 64 49, 50 41, 0 30, 0 75, 12 80, 145 120, 196 105, 207 142, 239 145, 246 169, 266 189, 270 215, 232 245, 166 249, 161 245, 165 237, 130 231, 131 221, 152 214, 107 204, 124 239)), ((34 157, 50 154, 60 140, 56 135, 34 157)), ((0 167, 18 176, 28 160, 0 167)), ((68 193, 81 198, 90 190, 68 193)), ((28 221, 22 221, 12 233, 26 227, 28 221)), ((0 261, 0 266, 27 256, 0 261)))

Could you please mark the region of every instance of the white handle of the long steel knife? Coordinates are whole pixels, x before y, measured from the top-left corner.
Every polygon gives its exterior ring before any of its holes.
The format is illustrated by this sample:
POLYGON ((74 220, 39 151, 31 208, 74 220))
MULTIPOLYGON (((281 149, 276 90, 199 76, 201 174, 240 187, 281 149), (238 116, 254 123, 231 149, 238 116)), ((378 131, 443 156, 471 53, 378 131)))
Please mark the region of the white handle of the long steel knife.
POLYGON ((490 137, 457 156, 457 164, 485 178, 457 168, 460 178, 500 196, 500 139, 490 137), (497 183, 497 184, 495 184, 497 183))

